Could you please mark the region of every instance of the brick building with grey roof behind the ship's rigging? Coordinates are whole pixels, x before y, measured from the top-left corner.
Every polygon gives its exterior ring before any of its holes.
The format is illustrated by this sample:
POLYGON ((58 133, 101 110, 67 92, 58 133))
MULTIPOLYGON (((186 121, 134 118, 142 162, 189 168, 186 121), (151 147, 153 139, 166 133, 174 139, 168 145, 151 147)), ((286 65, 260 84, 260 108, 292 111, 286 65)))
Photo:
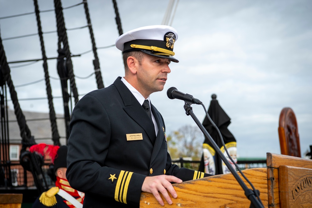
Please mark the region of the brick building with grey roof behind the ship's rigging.
MULTIPOLYGON (((7 112, 7 124, 9 129, 8 134, 4 132, 5 129, 1 129, 2 132, 0 155, 2 171, 0 170, 0 186, 11 186, 11 184, 6 181, 6 179, 9 178, 10 174, 12 186, 33 187, 35 186, 35 184, 33 181, 32 173, 30 171, 25 171, 24 168, 20 165, 19 161, 20 151, 22 149, 22 138, 20 136, 20 129, 17 123, 15 113, 13 110, 10 109, 7 112), (4 177, 4 180, 1 179, 1 177, 4 177)), ((27 126, 31 131, 31 135, 34 136, 36 143, 53 144, 49 113, 23 111, 23 114, 25 116, 27 126)), ((63 115, 57 114, 56 118, 58 132, 61 137, 60 143, 61 145, 66 145, 66 132, 63 115)), ((50 164, 50 160, 46 160, 44 161, 44 163, 50 164)), ((48 166, 42 167, 44 172, 46 172, 47 168, 48 166)), ((49 177, 46 178, 47 180, 50 180, 49 177)), ((47 183, 49 182, 50 181, 47 181, 47 183)))

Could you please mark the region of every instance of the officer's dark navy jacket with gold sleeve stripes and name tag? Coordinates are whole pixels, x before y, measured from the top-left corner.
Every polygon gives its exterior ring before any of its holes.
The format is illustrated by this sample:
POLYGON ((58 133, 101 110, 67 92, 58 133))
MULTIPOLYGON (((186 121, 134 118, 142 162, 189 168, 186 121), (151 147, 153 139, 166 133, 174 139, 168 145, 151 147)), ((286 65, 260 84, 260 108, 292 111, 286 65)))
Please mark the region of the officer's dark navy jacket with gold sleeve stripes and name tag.
POLYGON ((209 176, 171 164, 163 117, 158 125, 118 77, 109 87, 86 94, 70 123, 66 177, 85 193, 84 207, 139 207, 146 176, 173 175, 183 181, 209 176), (127 140, 127 135, 140 135, 127 140))

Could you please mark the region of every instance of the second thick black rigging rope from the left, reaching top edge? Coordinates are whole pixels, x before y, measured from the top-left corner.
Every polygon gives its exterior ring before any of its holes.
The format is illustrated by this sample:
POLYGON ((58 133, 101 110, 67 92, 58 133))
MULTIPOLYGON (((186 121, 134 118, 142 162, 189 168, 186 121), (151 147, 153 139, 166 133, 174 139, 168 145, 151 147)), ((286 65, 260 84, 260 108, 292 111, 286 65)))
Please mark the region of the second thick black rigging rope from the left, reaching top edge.
POLYGON ((46 81, 46 95, 48 97, 48 104, 49 104, 49 117, 50 117, 50 124, 51 124, 51 130, 52 130, 52 140, 53 140, 54 145, 61 146, 60 135, 59 135, 57 124, 56 124, 56 115, 55 115, 55 110, 54 110, 54 105, 53 105, 52 89, 51 89, 51 84, 50 84, 50 76, 49 76, 49 71, 48 71, 46 50, 45 50, 44 42, 43 42, 41 20, 40 20, 39 7, 38 7, 37 0, 34 0, 34 6, 35 6, 35 12, 36 12, 38 34, 39 34, 39 39, 41 43, 43 71, 45 74, 45 81, 46 81))

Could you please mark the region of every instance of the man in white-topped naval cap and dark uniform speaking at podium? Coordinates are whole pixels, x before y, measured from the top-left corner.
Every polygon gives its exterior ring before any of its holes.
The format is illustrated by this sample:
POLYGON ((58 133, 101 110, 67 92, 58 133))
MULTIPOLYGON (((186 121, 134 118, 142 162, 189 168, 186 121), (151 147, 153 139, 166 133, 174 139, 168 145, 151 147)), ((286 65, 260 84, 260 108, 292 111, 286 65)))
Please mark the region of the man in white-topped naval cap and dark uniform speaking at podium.
POLYGON ((165 123, 150 99, 163 90, 169 64, 179 62, 173 52, 177 39, 177 31, 165 25, 124 33, 115 43, 123 52, 124 77, 76 104, 66 176, 85 193, 85 207, 139 207, 141 191, 162 206, 172 204, 172 183, 209 176, 171 163, 165 123))

